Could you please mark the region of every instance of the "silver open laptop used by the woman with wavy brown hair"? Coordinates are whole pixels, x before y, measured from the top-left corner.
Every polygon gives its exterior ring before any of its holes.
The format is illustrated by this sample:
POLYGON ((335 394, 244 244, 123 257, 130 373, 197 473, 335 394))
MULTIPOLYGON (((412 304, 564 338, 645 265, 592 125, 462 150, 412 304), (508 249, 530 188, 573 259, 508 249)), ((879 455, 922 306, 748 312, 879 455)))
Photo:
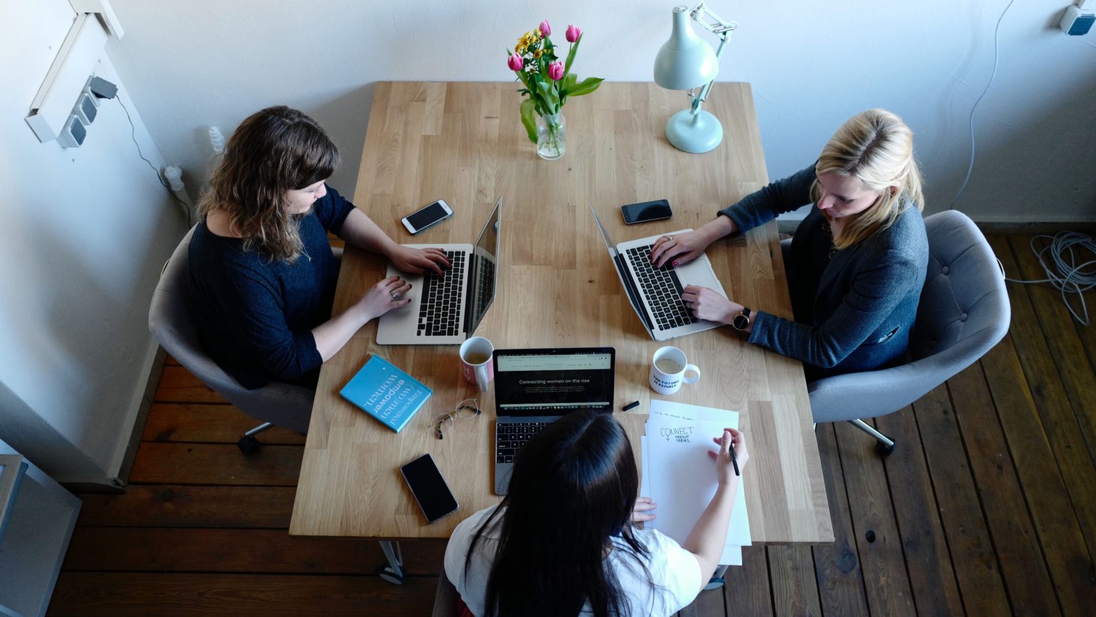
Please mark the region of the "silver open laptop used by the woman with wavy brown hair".
POLYGON ((389 263, 388 277, 411 283, 411 302, 380 316, 379 345, 459 345, 476 332, 498 287, 501 209, 499 198, 473 244, 404 245, 441 248, 453 268, 438 277, 407 274, 389 263))

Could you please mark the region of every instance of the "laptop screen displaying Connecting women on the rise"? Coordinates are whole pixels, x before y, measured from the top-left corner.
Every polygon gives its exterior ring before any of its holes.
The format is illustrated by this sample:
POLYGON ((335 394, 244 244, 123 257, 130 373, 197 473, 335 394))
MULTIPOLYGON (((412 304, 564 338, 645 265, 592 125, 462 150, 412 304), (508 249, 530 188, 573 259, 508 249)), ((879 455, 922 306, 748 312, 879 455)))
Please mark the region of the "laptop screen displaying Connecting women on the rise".
POLYGON ((496 349, 494 397, 500 416, 563 415, 578 410, 613 408, 616 351, 579 349, 496 349))

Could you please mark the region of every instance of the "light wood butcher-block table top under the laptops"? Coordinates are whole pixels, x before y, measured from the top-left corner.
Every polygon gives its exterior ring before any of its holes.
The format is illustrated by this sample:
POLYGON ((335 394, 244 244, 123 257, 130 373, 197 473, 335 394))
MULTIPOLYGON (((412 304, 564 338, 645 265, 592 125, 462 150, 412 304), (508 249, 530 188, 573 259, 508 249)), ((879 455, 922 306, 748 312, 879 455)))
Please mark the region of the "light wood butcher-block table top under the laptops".
MULTIPOLYGON (((514 83, 377 85, 354 203, 397 242, 470 243, 502 198, 499 289, 476 334, 495 348, 616 348, 616 412, 632 445, 658 397, 647 385, 657 343, 624 293, 587 202, 614 242, 696 228, 768 178, 750 86, 716 83, 706 109, 723 123, 722 144, 692 155, 664 135, 670 115, 688 104, 654 83, 603 83, 568 101, 567 154, 537 158, 518 119, 514 83), (625 203, 669 199, 674 216, 624 224, 625 203), (455 216, 418 236, 400 217, 436 199, 455 216)), ((708 257, 728 294, 747 306, 791 316, 775 223, 717 243, 708 257)), ((347 247, 334 311, 384 277, 383 257, 347 247)), ((750 464, 744 470, 755 542, 833 540, 810 403, 798 361, 747 345, 730 327, 669 343, 703 378, 671 397, 740 411, 750 464)), ((456 346, 379 346, 376 322, 323 364, 289 532, 370 538, 448 537, 492 493, 494 397, 465 382, 456 346), (339 396, 373 354, 434 390, 399 434, 339 396), (479 419, 458 420, 437 440, 431 419, 478 397, 479 419), (399 467, 431 452, 460 509, 426 525, 399 467)))

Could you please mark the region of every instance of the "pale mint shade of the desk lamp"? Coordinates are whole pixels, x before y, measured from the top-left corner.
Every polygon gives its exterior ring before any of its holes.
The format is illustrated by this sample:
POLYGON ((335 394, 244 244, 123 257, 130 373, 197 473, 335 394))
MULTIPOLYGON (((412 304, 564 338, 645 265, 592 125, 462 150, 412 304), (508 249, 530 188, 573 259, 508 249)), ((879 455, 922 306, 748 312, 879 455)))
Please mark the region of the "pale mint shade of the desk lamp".
POLYGON ((693 32, 687 7, 674 8, 674 30, 654 57, 654 82, 667 90, 692 90, 719 75, 711 45, 693 32))

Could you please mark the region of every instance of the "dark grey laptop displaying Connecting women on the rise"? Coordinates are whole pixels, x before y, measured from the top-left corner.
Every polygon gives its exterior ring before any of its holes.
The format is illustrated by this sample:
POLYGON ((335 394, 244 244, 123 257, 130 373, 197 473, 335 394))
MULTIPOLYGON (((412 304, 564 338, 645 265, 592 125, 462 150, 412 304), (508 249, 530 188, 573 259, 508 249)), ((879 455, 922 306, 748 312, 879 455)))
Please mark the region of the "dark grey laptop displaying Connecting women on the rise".
POLYGON ((613 413, 616 350, 495 349, 494 493, 505 495, 514 456, 548 424, 584 410, 613 413))

